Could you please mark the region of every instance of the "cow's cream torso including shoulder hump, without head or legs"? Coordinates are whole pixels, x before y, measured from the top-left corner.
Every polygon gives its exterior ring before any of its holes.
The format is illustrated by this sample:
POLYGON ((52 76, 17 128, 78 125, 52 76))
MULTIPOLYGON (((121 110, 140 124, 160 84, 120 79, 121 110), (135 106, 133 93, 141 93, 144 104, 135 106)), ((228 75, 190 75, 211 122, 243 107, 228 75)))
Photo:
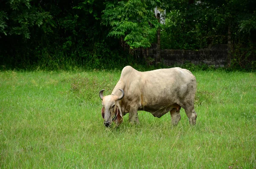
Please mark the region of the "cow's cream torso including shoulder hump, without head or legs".
POLYGON ((125 97, 140 101, 142 106, 176 103, 186 95, 191 85, 196 85, 195 76, 178 67, 139 72, 126 66, 120 80, 125 82, 125 97))

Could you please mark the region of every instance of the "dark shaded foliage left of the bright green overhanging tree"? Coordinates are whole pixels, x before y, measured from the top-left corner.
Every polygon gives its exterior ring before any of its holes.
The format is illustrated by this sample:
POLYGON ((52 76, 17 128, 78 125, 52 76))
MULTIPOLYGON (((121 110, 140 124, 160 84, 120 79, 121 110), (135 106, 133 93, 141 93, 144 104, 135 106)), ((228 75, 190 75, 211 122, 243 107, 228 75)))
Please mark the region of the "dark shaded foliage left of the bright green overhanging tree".
POLYGON ((21 24, 8 24, 7 36, 0 37, 0 61, 7 69, 121 69, 137 61, 102 31, 108 29, 99 20, 104 1, 17 2, 1 2, 6 6, 0 6, 6 14, 0 15, 2 32, 7 30, 7 23, 2 22, 7 17, 21 24))

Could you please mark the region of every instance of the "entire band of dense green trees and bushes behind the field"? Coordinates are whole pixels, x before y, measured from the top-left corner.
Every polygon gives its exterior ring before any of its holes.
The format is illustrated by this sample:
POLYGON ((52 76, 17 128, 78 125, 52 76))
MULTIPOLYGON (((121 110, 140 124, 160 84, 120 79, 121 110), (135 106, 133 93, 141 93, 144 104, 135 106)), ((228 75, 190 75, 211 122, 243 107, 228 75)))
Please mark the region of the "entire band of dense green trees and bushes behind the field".
POLYGON ((0 1, 0 69, 112 69, 144 64, 134 50, 227 43, 231 26, 234 69, 254 70, 256 1, 3 0, 0 1), (152 10, 163 12, 158 23, 152 10), (133 55, 132 55, 133 54, 133 55))

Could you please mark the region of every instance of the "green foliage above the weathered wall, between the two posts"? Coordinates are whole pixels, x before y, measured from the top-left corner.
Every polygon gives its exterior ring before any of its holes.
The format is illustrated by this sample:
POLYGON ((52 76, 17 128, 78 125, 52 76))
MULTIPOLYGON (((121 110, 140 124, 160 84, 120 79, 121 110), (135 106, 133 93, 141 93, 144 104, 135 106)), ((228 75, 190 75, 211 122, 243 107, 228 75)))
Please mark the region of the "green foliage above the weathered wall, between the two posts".
MULTIPOLYGON (((186 1, 185 1, 186 2, 186 1)), ((163 49, 202 49, 209 44, 226 43, 227 30, 223 30, 225 18, 222 4, 202 2, 190 4, 174 1, 166 14, 163 28, 163 49), (217 32, 217 34, 216 34, 217 32)))

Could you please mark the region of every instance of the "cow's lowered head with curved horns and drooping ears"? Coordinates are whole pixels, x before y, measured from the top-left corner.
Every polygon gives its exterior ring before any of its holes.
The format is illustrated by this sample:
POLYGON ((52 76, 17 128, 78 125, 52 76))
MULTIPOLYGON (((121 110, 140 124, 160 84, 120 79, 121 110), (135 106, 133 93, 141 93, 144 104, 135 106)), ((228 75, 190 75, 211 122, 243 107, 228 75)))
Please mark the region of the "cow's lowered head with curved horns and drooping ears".
POLYGON ((121 100, 125 96, 125 92, 122 92, 121 96, 107 95, 103 96, 105 90, 99 92, 99 97, 102 100, 102 118, 104 118, 104 125, 109 127, 114 121, 117 125, 122 122, 122 111, 118 100, 121 100))

